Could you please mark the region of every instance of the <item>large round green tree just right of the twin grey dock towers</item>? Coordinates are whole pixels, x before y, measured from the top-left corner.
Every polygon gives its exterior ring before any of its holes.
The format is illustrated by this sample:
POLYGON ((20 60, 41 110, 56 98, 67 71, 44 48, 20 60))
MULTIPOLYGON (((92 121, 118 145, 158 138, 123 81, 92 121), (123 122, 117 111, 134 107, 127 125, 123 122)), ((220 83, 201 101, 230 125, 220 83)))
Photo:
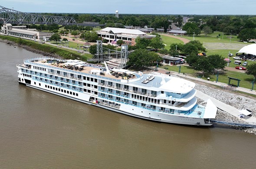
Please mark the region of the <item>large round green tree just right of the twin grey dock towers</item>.
POLYGON ((146 49, 136 49, 129 55, 127 65, 145 68, 161 60, 162 58, 155 52, 150 52, 146 49))

